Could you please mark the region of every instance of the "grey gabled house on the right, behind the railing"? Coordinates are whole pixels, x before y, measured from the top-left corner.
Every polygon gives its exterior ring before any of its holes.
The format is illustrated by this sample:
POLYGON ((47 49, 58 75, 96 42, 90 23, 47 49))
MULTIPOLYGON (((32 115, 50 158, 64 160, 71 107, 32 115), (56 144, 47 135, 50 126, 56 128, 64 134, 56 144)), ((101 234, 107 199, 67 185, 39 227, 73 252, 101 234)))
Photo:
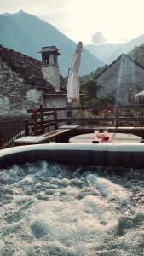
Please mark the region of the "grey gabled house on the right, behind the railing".
POLYGON ((130 103, 135 94, 144 90, 144 67, 129 55, 120 55, 95 77, 97 96, 114 96, 120 104, 130 103))

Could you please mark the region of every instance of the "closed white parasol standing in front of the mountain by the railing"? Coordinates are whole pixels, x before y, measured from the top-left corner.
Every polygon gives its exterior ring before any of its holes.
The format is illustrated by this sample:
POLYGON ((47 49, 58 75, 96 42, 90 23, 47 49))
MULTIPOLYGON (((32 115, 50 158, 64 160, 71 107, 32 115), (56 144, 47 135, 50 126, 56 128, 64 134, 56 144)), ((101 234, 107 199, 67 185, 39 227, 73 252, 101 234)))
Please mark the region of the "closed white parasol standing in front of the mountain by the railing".
POLYGON ((68 102, 78 102, 79 100, 79 79, 78 79, 78 68, 80 65, 81 52, 83 49, 82 42, 78 42, 78 45, 75 49, 71 71, 68 75, 67 81, 67 99, 68 102))

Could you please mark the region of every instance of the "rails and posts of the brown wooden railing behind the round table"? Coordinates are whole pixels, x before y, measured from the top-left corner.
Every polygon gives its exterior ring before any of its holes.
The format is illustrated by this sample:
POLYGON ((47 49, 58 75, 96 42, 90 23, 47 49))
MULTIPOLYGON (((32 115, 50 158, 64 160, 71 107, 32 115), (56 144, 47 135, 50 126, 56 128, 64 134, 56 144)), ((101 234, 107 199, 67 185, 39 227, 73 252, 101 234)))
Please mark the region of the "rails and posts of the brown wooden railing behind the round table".
MULTIPOLYGON (((115 122, 115 126, 118 127, 119 121, 125 120, 125 121, 144 121, 144 117, 130 117, 123 116, 122 110, 126 112, 130 112, 130 109, 142 109, 144 110, 144 104, 135 104, 135 105, 100 105, 100 106, 72 106, 70 104, 67 104, 66 107, 60 107, 60 108, 43 108, 43 105, 40 105, 40 108, 37 109, 28 109, 27 113, 31 113, 32 122, 27 123, 27 125, 31 125, 33 127, 34 135, 38 134, 38 128, 41 127, 41 131, 45 131, 45 127, 49 127, 50 125, 55 125, 55 130, 58 128, 58 124, 60 122, 66 121, 67 125, 72 125, 72 121, 84 121, 84 120, 91 120, 91 121, 112 121, 115 122), (91 117, 87 116, 72 116, 72 111, 92 111, 95 113, 96 111, 101 111, 101 116, 96 116, 93 114, 91 117), (103 112, 107 112, 107 110, 113 111, 111 116, 102 116, 103 112), (66 111, 66 118, 65 119, 58 119, 57 112, 58 111, 66 111), (102 112, 103 111, 103 112, 102 112), (49 122, 49 120, 44 119, 46 116, 53 115, 54 117, 54 123, 49 122)), ((27 133, 26 133, 27 135, 27 133)))

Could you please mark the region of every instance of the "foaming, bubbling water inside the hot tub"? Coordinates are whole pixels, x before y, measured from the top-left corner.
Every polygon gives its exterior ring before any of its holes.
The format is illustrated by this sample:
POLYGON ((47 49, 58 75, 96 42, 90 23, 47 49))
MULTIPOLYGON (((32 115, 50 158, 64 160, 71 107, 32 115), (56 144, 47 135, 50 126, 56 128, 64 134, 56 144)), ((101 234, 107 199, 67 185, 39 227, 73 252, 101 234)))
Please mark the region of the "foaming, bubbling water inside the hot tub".
POLYGON ((0 255, 143 255, 143 188, 143 170, 46 161, 1 170, 0 255))

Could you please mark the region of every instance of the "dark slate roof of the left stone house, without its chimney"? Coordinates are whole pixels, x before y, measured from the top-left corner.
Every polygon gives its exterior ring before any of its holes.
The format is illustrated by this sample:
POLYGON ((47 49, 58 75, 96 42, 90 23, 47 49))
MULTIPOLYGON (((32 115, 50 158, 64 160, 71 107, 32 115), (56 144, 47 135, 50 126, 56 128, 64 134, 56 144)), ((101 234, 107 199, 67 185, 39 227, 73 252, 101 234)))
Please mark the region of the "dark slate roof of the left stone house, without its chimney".
MULTIPOLYGON (((44 90, 47 93, 56 93, 52 84, 43 79, 41 61, 38 61, 13 49, 8 49, 0 45, 0 58, 7 63, 12 70, 20 74, 26 84, 32 88, 44 90)), ((66 79, 60 75, 61 90, 66 88, 66 79)))

